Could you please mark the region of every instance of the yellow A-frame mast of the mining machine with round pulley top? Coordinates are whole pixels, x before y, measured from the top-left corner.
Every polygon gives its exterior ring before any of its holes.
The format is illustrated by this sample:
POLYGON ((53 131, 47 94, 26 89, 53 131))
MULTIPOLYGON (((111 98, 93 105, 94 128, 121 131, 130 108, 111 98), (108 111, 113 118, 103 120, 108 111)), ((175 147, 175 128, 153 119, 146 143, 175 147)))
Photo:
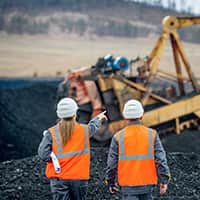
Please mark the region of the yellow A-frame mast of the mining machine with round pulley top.
POLYGON ((192 82, 193 88, 196 92, 200 91, 200 88, 198 86, 197 80, 194 77, 194 74, 191 71, 190 63, 187 59, 187 56, 185 54, 183 45, 179 39, 179 35, 177 32, 177 29, 183 28, 183 27, 189 27, 195 24, 200 24, 200 17, 175 17, 175 16, 167 16, 162 21, 163 24, 163 32, 158 39, 156 46, 152 50, 152 52, 149 55, 149 59, 147 60, 147 66, 149 71, 149 77, 147 81, 147 92, 144 94, 142 102, 143 105, 146 105, 149 96, 151 94, 151 82, 154 80, 160 64, 160 59, 163 54, 164 47, 166 46, 166 42, 168 38, 170 38, 172 50, 173 50, 173 56, 174 56, 174 62, 176 67, 176 73, 177 73, 177 80, 178 85, 180 89, 180 94, 184 95, 184 86, 183 86, 183 75, 181 70, 181 62, 180 59, 182 59, 183 64, 185 65, 186 72, 188 74, 189 80, 192 82))

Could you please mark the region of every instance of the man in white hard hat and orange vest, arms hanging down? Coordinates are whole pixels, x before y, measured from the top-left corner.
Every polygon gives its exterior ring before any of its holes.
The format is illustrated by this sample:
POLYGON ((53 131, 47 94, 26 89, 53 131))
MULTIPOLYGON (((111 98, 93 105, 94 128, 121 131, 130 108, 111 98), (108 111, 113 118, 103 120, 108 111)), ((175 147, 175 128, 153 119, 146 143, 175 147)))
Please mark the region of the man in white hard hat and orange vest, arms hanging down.
POLYGON ((161 195, 167 191, 170 180, 159 136, 142 124, 143 113, 139 101, 127 101, 123 109, 127 126, 113 136, 110 145, 106 182, 112 194, 121 188, 123 200, 152 200, 158 179, 161 195))

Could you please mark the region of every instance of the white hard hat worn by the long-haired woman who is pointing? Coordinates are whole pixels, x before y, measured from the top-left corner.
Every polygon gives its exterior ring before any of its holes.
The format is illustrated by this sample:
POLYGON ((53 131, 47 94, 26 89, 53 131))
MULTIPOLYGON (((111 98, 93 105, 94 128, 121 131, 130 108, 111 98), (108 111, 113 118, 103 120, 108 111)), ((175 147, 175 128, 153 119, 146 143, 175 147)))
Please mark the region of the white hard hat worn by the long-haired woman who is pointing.
POLYGON ((57 115, 60 119, 69 118, 76 115, 77 103, 71 98, 63 98, 57 104, 57 115))

